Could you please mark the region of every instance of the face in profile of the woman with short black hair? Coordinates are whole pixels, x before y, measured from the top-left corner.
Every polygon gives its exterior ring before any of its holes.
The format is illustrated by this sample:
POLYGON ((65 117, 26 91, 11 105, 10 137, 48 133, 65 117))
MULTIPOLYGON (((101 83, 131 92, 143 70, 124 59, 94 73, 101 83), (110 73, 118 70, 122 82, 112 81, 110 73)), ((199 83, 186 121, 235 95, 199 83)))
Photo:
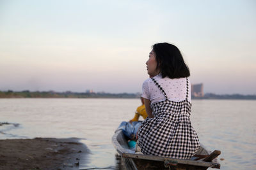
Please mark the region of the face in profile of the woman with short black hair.
POLYGON ((147 60, 146 64, 147 64, 147 71, 150 77, 156 76, 157 74, 159 74, 160 71, 159 69, 156 69, 157 61, 156 61, 156 56, 153 50, 149 53, 149 59, 147 60))

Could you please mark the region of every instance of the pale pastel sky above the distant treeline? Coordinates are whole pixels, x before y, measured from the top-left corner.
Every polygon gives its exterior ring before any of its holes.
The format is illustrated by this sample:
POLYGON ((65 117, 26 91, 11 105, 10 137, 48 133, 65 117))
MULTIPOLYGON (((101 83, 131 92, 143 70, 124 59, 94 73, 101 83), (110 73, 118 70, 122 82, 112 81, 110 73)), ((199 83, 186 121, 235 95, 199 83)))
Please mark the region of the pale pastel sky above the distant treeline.
POLYGON ((256 94, 256 1, 0 0, 0 90, 136 93, 154 43, 205 93, 256 94))

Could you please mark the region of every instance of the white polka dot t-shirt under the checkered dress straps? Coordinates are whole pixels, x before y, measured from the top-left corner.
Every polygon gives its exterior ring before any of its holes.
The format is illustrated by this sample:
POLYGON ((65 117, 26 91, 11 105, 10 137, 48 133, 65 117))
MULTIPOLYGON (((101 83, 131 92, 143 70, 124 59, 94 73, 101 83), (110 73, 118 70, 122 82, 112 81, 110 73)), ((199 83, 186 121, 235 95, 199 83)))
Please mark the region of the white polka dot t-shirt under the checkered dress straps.
MULTIPOLYGON (((162 78, 161 74, 154 76, 154 79, 161 85, 164 92, 168 96, 169 101, 183 101, 186 99, 186 78, 162 78)), ((191 87, 190 81, 188 80, 189 87, 191 87)), ((191 101, 191 88, 188 92, 188 101, 191 101)), ((151 104, 157 103, 159 101, 164 101, 165 97, 163 92, 156 86, 151 78, 144 81, 142 85, 142 95, 141 97, 149 99, 151 104)))

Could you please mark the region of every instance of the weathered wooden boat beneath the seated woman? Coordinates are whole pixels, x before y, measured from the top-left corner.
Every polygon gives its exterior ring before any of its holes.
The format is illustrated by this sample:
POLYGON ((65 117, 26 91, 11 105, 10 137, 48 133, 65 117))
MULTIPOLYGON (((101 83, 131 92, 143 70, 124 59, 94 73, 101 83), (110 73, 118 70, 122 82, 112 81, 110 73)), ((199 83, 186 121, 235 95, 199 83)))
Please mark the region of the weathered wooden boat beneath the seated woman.
POLYGON ((200 150, 194 157, 189 160, 172 159, 169 157, 158 157, 153 155, 143 155, 135 153, 128 146, 122 130, 117 130, 112 137, 113 146, 121 156, 122 162, 127 170, 140 169, 207 169, 208 167, 220 169, 216 157, 220 155, 220 151, 215 150, 210 153, 205 150, 204 146, 200 146, 200 150))

